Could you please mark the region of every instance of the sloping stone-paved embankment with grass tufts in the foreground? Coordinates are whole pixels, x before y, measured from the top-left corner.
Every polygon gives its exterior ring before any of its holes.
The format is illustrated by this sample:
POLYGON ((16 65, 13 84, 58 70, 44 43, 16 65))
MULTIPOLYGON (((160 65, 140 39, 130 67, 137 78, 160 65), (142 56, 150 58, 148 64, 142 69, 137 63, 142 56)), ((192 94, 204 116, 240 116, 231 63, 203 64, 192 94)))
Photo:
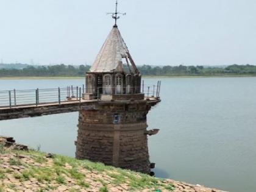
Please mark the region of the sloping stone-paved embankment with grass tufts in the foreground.
POLYGON ((224 192, 113 168, 102 163, 27 150, 14 140, 10 142, 10 138, 0 137, 0 192, 2 191, 224 192))

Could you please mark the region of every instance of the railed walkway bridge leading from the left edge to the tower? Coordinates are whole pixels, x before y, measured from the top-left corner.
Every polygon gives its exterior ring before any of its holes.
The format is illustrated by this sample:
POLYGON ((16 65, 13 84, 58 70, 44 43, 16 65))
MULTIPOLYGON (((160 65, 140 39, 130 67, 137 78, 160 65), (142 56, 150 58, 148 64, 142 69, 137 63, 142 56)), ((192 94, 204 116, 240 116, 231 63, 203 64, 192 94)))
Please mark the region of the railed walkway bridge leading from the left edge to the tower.
POLYGON ((0 91, 0 121, 77 112, 80 108, 90 107, 90 104, 94 102, 118 104, 124 100, 127 103, 146 100, 151 105, 160 102, 160 81, 157 82, 157 86, 144 85, 143 83, 141 89, 143 90, 142 93, 137 94, 137 97, 140 98, 138 100, 129 99, 131 94, 100 94, 99 88, 98 95, 89 99, 84 96, 86 90, 84 85, 81 87, 0 91), (115 98, 112 97, 114 95, 115 98))

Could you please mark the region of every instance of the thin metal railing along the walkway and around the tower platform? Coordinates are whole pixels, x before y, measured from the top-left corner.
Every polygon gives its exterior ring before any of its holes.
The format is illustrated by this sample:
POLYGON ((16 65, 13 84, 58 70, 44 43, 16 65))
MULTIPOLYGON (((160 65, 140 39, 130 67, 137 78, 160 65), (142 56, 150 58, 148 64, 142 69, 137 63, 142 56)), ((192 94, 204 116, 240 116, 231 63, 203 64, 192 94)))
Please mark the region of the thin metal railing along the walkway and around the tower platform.
POLYGON ((158 98, 160 95, 161 81, 157 85, 144 84, 141 87, 98 87, 96 90, 85 88, 84 85, 67 86, 65 88, 47 88, 31 90, 7 90, 0 91, 0 108, 12 108, 24 105, 40 105, 63 102, 81 102, 82 93, 93 93, 91 99, 100 99, 101 94, 137 94, 144 93, 145 97, 158 98), (119 90, 118 90, 119 89, 119 90), (110 91, 110 92, 108 92, 110 91), (96 94, 95 94, 96 93, 96 94))

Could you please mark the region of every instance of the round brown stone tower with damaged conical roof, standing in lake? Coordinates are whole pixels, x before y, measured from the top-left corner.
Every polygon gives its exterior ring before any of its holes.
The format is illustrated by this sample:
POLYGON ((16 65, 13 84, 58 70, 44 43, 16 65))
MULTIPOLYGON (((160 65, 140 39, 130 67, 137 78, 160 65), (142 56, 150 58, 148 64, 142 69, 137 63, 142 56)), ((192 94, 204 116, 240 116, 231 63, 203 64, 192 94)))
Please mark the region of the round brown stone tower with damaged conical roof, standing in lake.
POLYGON ((141 74, 113 26, 86 74, 79 111, 76 158, 149 173, 147 114, 158 96, 141 93, 141 74))

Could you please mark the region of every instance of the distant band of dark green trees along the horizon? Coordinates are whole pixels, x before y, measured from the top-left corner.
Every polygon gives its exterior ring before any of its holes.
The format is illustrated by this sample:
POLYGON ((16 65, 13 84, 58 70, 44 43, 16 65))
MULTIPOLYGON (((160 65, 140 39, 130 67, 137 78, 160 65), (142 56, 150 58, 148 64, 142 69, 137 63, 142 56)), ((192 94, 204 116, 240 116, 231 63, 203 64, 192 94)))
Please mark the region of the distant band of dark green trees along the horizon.
MULTIPOLYGON (((0 69, 0 77, 83 77, 89 65, 27 66, 23 69, 0 69)), ((255 65, 204 66, 138 66, 144 76, 256 76, 255 65)))

